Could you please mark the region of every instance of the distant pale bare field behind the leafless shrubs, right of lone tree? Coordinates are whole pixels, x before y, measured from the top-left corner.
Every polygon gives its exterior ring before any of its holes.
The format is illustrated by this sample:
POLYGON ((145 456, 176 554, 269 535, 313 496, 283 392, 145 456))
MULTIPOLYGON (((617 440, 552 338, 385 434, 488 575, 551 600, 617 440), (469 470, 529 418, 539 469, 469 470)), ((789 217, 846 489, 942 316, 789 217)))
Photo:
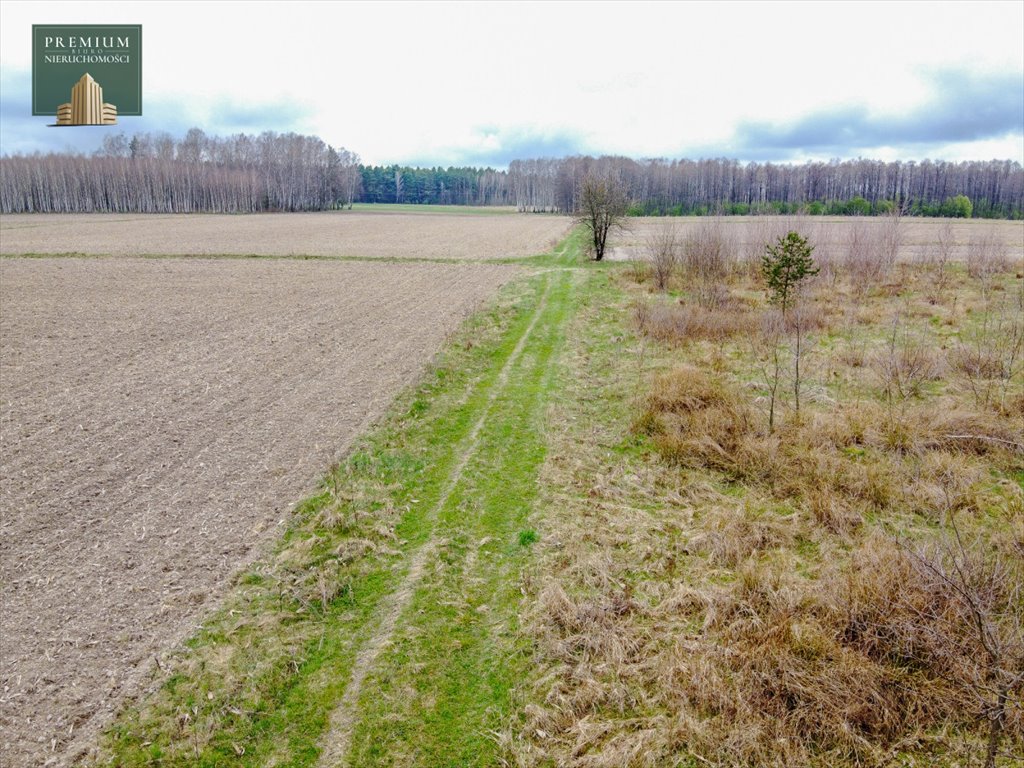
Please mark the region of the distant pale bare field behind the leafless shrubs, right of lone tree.
MULTIPOLYGON (((717 222, 722 231, 739 252, 758 251, 766 241, 786 229, 797 229, 816 246, 816 255, 826 254, 842 258, 855 230, 866 239, 878 239, 886 225, 884 217, 859 218, 853 216, 710 216, 643 217, 627 220, 629 229, 612 238, 613 261, 640 255, 647 238, 666 226, 675 226, 681 238, 686 238, 703 224, 717 222)), ((1001 244, 1007 256, 1024 258, 1024 221, 1000 219, 932 219, 904 217, 899 223, 900 257, 914 259, 938 243, 939 233, 948 225, 954 240, 952 257, 963 261, 972 243, 982 238, 992 238, 1001 244)))

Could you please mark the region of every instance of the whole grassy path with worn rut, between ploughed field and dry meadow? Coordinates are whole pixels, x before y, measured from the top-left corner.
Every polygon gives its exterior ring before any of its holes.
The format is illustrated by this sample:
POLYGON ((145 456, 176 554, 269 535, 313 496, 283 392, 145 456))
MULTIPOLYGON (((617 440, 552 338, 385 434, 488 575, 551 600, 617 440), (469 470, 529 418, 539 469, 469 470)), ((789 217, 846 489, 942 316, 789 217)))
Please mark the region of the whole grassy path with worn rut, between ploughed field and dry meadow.
POLYGON ((474 317, 280 548, 160 662, 95 762, 494 765, 573 241, 474 317))

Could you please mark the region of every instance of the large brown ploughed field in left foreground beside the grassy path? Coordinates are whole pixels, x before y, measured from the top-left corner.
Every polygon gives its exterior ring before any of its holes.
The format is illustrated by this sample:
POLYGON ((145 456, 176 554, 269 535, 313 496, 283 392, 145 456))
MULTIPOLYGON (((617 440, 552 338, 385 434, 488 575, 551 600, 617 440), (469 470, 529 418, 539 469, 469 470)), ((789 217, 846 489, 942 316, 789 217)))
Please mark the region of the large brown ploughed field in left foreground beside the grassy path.
POLYGON ((87 746, 514 273, 0 261, 3 764, 63 764, 87 746))

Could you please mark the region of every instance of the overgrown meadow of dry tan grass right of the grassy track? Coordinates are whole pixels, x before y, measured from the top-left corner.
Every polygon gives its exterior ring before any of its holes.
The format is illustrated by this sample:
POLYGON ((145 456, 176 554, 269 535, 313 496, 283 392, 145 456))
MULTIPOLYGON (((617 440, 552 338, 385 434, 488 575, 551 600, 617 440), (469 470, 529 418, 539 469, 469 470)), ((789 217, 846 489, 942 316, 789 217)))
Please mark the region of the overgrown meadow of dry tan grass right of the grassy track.
POLYGON ((711 311, 623 281, 635 359, 581 318, 591 346, 547 470, 554 544, 524 586, 543 674, 510 760, 1024 761, 1024 377, 991 332, 1013 327, 1020 278, 946 263, 927 290, 936 268, 815 281, 799 415, 793 329, 765 322, 746 269, 711 311), (654 369, 639 384, 638 364, 654 369), (609 451, 615 402, 635 453, 609 451))

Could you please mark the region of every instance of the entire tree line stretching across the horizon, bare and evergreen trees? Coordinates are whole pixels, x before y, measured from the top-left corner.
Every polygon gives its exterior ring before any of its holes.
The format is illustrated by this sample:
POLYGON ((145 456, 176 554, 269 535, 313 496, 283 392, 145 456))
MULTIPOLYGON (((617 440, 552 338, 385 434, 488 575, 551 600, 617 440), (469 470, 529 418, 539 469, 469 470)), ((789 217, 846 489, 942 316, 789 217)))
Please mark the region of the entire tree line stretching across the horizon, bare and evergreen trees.
POLYGON ((92 156, 0 158, 0 210, 71 213, 303 211, 354 202, 509 205, 581 210, 588 175, 612 178, 632 215, 873 215, 1024 217, 1024 169, 1014 161, 809 162, 515 160, 494 168, 361 165, 315 136, 265 132, 183 138, 111 134, 92 156))

